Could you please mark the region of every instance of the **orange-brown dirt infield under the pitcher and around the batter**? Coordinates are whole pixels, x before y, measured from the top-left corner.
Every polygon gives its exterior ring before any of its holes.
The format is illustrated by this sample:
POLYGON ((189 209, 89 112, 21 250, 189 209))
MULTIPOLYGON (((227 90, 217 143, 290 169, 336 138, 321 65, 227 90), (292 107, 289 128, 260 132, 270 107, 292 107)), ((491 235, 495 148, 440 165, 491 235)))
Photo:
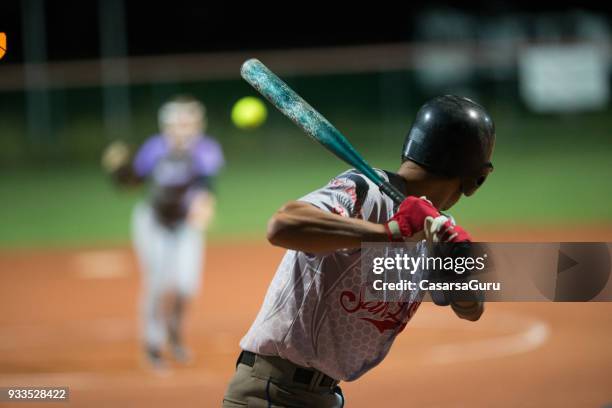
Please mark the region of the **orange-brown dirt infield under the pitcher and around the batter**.
MULTIPOLYGON (((612 241, 610 231, 529 237, 612 241)), ((141 364, 129 249, 0 252, 0 386, 69 386, 73 406, 219 406, 281 255, 212 245, 188 321, 196 361, 160 376, 141 364)), ((612 402, 610 338, 610 303, 489 304, 476 324, 425 304, 386 360, 343 389, 348 407, 599 407, 612 402)))

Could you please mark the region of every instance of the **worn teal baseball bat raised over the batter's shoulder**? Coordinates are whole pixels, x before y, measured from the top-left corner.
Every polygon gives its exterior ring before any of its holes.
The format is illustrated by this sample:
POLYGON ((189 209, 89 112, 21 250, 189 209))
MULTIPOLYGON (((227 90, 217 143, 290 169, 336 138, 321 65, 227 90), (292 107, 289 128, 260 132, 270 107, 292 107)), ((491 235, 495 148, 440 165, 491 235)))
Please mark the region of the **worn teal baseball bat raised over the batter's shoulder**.
POLYGON ((378 174, 338 129, 259 60, 245 61, 240 74, 308 136, 361 172, 396 204, 404 200, 404 195, 378 174))

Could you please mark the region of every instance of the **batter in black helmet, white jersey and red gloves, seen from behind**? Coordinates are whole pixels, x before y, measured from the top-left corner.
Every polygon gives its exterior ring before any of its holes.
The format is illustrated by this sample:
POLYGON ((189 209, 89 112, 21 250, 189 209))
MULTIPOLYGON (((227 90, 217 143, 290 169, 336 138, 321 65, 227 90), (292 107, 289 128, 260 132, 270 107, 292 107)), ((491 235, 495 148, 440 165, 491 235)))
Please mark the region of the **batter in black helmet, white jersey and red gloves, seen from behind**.
MULTIPOLYGON (((365 301, 361 243, 420 241, 423 233, 436 242, 469 242, 440 211, 482 185, 494 140, 482 106, 438 97, 419 110, 397 173, 377 170, 407 196, 398 208, 356 171, 285 204, 270 220, 268 239, 288 250, 240 342, 223 406, 343 406, 338 383, 358 379, 385 358, 424 295, 365 301)), ((483 312, 478 301, 450 304, 467 320, 483 312)))

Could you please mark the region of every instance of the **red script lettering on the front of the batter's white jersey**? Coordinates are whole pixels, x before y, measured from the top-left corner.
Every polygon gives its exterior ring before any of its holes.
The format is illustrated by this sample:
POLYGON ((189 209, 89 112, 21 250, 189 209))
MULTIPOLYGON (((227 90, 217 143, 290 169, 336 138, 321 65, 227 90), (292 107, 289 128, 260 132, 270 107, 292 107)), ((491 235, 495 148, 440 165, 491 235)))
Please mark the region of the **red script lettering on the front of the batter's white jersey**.
POLYGON ((359 292, 359 297, 350 290, 345 290, 340 295, 340 305, 350 314, 365 312, 368 316, 358 319, 371 323, 380 334, 387 330, 400 333, 408 324, 420 302, 381 302, 364 300, 364 289, 359 292))

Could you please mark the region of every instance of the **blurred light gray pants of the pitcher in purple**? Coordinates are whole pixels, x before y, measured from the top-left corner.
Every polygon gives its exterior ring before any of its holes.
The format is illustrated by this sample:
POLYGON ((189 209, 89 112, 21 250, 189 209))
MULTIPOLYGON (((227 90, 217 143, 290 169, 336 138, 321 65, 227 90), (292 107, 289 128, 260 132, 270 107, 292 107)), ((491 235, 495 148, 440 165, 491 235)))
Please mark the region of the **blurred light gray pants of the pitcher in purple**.
POLYGON ((147 203, 134 208, 132 236, 142 272, 144 342, 160 350, 168 340, 177 340, 172 337, 180 332, 182 303, 199 289, 204 237, 186 222, 172 229, 163 226, 147 203))

